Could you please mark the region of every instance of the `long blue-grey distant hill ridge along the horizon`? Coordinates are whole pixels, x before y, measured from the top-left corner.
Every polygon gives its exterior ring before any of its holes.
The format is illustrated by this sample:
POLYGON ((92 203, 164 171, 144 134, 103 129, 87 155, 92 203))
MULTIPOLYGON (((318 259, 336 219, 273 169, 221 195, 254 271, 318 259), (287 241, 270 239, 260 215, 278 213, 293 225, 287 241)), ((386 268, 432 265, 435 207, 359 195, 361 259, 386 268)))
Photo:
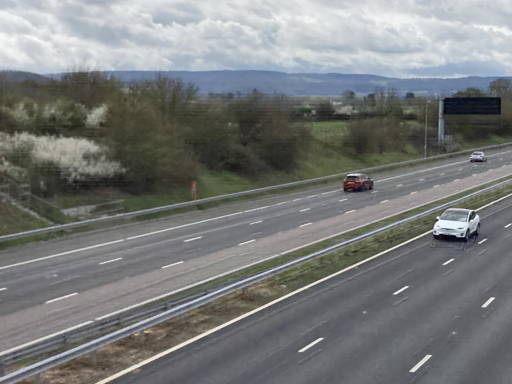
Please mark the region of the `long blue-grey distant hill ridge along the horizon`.
MULTIPOLYGON (((158 75, 181 78, 199 87, 200 92, 247 94, 254 88, 263 93, 283 93, 286 95, 339 96, 346 90, 358 95, 375 92, 379 88, 393 87, 399 95, 413 92, 416 96, 451 96, 468 87, 487 91, 489 83, 500 78, 461 77, 461 78, 410 78, 399 79, 376 75, 351 75, 341 73, 284 73, 273 71, 105 71, 125 82, 154 79, 158 75)), ((45 75, 60 78, 61 74, 45 75)), ((508 77, 512 79, 512 77, 508 77)))

